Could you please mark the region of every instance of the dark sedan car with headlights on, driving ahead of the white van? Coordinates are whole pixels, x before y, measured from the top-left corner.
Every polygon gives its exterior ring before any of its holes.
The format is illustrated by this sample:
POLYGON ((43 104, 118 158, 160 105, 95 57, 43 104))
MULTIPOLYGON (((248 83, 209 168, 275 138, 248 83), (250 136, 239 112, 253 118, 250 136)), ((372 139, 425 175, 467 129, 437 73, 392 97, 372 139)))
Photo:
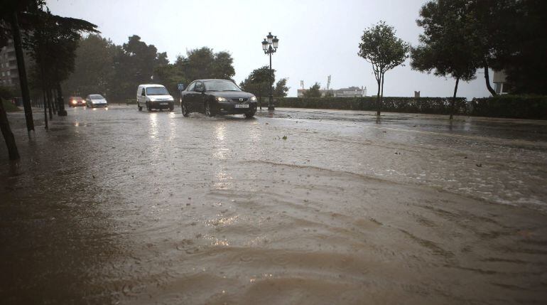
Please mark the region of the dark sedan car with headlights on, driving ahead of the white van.
POLYGON ((215 114, 244 114, 251 118, 256 112, 256 97, 243 92, 230 80, 194 80, 180 91, 180 107, 183 115, 190 112, 215 114))

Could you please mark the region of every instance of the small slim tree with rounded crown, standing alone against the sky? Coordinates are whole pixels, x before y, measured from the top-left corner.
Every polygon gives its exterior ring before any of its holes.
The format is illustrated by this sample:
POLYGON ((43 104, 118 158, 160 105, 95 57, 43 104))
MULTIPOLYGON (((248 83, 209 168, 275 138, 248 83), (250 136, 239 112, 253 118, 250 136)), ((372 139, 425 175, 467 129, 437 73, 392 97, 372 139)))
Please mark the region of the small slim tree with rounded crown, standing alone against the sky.
POLYGON ((404 63, 408 58, 410 46, 395 36, 392 26, 384 21, 367 28, 359 43, 359 56, 372 63, 374 77, 378 83, 377 115, 381 111, 381 98, 384 95, 384 74, 404 63))

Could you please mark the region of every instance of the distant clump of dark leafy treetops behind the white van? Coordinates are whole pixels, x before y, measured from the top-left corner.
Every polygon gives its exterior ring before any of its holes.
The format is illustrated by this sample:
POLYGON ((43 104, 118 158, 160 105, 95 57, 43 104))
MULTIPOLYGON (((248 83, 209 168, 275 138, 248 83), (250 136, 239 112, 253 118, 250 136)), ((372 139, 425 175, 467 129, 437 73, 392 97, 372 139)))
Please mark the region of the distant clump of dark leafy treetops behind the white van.
POLYGON ((173 94, 178 83, 188 85, 200 78, 230 79, 235 70, 232 56, 210 48, 188 50, 170 63, 166 52, 130 36, 122 46, 99 35, 80 40, 75 60, 75 73, 65 82, 72 94, 100 93, 112 100, 134 98, 136 86, 155 82, 165 85, 173 94))

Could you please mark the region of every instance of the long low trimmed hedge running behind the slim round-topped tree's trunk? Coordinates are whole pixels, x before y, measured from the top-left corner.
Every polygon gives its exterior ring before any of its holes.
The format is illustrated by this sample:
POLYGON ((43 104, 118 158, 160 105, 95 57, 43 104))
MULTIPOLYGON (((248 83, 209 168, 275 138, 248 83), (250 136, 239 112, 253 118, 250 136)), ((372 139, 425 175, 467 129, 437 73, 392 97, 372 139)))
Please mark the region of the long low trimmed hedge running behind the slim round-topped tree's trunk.
MULTIPOLYGON (((450 114, 452 97, 384 97, 381 111, 428 114, 450 114)), ((283 97, 274 103, 276 107, 377 110, 377 97, 283 97)), ((467 102, 457 97, 455 114, 467 114, 467 102)))

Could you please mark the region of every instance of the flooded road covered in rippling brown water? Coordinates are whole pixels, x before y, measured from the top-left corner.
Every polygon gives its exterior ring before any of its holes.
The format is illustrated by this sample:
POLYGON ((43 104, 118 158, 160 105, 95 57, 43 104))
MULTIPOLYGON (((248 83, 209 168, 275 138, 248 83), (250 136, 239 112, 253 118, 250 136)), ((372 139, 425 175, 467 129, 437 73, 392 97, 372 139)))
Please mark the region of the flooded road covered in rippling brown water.
POLYGON ((547 301, 547 122, 68 112, 10 115, 3 304, 547 301))

